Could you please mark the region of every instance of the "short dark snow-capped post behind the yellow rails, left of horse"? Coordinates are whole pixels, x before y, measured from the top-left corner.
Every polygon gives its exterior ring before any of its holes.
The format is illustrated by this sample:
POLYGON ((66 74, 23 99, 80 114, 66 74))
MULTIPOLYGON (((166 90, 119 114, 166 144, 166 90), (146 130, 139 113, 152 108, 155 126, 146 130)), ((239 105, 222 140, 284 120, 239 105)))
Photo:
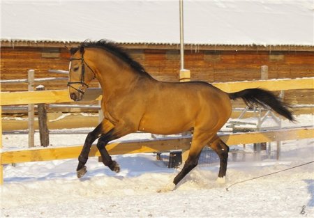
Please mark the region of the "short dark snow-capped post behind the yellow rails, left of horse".
MULTIPOLYGON (((45 86, 39 85, 36 87, 36 91, 44 91, 45 86)), ((47 110, 46 104, 37 104, 38 110, 38 128, 39 128, 39 139, 40 146, 49 146, 49 130, 47 127, 47 110)))

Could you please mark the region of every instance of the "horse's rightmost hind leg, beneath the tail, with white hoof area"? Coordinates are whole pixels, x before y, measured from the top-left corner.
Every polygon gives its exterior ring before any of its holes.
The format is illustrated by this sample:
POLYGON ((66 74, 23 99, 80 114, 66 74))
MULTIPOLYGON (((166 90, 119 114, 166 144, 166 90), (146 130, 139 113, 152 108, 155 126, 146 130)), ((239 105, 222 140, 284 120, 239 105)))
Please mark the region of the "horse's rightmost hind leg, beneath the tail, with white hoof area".
POLYGON ((214 138, 214 141, 209 144, 209 147, 212 148, 219 156, 220 168, 218 173, 218 182, 224 182, 225 173, 227 171, 229 147, 217 135, 214 138))

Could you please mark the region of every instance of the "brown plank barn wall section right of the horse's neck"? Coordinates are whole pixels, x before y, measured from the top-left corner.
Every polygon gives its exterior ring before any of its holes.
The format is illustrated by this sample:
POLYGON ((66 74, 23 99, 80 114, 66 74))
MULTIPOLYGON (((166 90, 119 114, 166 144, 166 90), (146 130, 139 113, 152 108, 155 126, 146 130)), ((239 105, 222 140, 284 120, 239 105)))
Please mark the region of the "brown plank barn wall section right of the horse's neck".
MULTIPOLYGON (((137 61, 156 79, 178 81, 179 51, 145 50, 137 61)), ((191 79, 209 82, 260 79, 261 65, 269 79, 314 76, 314 52, 186 51, 185 68, 191 79)))

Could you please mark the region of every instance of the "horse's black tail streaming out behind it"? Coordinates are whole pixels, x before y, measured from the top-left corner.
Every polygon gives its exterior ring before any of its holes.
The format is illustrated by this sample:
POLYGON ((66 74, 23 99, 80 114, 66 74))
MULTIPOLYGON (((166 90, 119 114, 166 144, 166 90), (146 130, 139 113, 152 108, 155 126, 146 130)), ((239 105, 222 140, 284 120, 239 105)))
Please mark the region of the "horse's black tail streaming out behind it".
POLYGON ((282 102, 274 93, 262 88, 248 88, 237 93, 229 93, 229 98, 235 100, 242 98, 247 105, 260 105, 262 107, 271 107, 281 116, 284 116, 290 121, 294 121, 292 113, 289 111, 290 106, 282 102))

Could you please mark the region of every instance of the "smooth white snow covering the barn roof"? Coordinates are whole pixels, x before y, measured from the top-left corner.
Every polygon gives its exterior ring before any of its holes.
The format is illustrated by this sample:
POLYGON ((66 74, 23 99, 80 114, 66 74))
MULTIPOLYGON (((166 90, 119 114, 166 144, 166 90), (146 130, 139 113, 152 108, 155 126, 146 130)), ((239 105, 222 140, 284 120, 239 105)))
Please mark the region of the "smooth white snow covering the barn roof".
MULTIPOLYGON (((313 0, 184 0, 184 41, 314 45, 313 0)), ((1 39, 179 43, 179 1, 1 0, 1 39)))

